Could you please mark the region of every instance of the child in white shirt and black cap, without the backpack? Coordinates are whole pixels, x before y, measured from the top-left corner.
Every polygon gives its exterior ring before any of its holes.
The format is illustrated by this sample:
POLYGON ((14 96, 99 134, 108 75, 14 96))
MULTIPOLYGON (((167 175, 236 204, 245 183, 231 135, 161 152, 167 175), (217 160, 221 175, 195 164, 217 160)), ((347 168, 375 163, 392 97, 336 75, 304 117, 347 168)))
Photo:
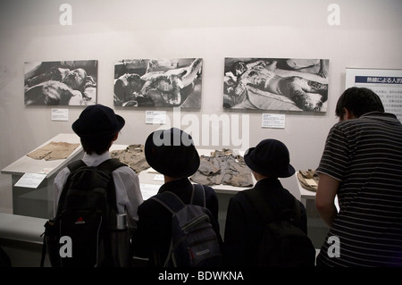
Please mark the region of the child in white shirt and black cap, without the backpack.
MULTIPOLYGON (((80 137, 85 152, 82 161, 88 166, 97 166, 111 158, 109 148, 119 137, 124 124, 124 119, 105 105, 89 105, 84 109, 71 126, 80 137)), ((69 174, 70 170, 65 167, 54 179, 54 213, 57 213, 57 204, 69 174)), ((127 214, 130 228, 135 228, 137 208, 143 201, 138 175, 129 166, 121 166, 112 174, 117 210, 119 214, 127 214)))

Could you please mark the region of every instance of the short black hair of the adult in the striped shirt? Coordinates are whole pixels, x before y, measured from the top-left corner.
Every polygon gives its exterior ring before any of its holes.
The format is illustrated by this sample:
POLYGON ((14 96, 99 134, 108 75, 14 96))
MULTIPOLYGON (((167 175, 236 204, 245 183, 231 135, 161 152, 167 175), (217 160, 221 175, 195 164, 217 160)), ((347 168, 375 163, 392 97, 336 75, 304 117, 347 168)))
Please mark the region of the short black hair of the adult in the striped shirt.
POLYGON ((352 87, 346 89, 341 96, 339 96, 338 103, 335 109, 335 114, 343 119, 345 109, 358 118, 364 113, 369 112, 384 112, 381 98, 369 88, 352 87))

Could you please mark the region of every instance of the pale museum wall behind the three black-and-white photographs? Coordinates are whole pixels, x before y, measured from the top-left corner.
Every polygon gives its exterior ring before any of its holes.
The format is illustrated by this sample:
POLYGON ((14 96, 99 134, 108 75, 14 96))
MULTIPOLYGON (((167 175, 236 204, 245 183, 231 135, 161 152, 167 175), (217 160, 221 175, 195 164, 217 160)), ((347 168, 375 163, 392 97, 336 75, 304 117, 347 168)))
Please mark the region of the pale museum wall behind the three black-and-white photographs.
MULTIPOLYGON (((401 14, 400 0, 2 1, 0 167, 59 133, 72 132, 71 123, 83 110, 64 106, 69 120, 58 122, 51 120, 52 106, 24 105, 25 62, 97 60, 97 102, 125 118, 116 143, 128 145, 143 144, 161 126, 146 124, 150 109, 113 106, 115 61, 199 57, 203 59, 201 108, 181 109, 179 114, 172 108, 153 109, 167 112, 171 122, 166 128, 186 129, 191 121, 193 128, 198 123, 198 135, 202 130, 211 136, 217 131, 219 143, 210 138, 203 144, 200 139, 199 148, 245 149, 261 139, 277 138, 289 147, 297 170, 314 169, 327 133, 337 122, 334 109, 345 88, 345 69, 402 68, 401 14), (60 20, 64 3, 71 5, 71 25, 60 20), (328 110, 223 109, 225 57, 329 59, 328 110), (285 127, 262 128, 263 113, 285 114, 285 127), (203 115, 229 119, 229 124, 207 125, 203 115), (227 130, 233 137, 229 140, 227 130), (241 138, 240 144, 236 138, 241 138)), ((294 188, 296 181, 288 179, 285 186, 294 188)))

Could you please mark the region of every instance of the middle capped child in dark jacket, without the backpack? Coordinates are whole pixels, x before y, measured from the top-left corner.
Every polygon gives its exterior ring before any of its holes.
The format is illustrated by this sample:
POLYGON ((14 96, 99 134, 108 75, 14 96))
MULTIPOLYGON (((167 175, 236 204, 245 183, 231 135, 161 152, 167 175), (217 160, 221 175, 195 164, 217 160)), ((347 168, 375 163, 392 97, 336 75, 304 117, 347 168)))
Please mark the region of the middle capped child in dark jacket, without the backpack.
MULTIPOLYGON (((171 191, 189 204, 194 186, 188 177, 197 172, 200 159, 188 133, 177 128, 155 130, 147 138, 145 155, 147 163, 164 176, 158 194, 171 191)), ((203 187, 205 205, 218 221, 218 197, 214 189, 203 187)), ((134 255, 148 258, 149 266, 163 266, 171 245, 171 222, 172 213, 154 199, 139 205, 134 255)), ((221 237, 219 227, 214 230, 221 237)))

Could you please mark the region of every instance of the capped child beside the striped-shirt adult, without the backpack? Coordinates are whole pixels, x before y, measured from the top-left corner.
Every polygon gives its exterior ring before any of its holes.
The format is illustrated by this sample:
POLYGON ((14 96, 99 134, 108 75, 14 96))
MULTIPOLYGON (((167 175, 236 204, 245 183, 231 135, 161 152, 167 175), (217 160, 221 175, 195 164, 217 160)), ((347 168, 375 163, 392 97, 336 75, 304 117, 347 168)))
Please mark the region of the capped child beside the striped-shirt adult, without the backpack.
MULTIPOLYGON (((234 267, 255 267, 257 248, 264 232, 264 222, 245 194, 256 191, 273 214, 293 209, 294 197, 284 189, 279 178, 295 173, 290 164, 289 150, 279 140, 264 139, 247 149, 244 156, 255 180, 253 189, 239 191, 230 198, 224 233, 224 264, 234 267)), ((307 232, 306 209, 301 209, 301 230, 307 232)))

